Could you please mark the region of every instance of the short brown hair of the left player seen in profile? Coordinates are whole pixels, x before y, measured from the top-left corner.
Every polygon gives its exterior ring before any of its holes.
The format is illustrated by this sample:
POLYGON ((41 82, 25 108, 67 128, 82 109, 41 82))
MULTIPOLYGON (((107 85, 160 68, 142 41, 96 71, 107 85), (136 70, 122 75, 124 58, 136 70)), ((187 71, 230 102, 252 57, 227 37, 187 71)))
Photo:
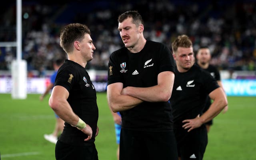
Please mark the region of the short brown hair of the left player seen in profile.
POLYGON ((60 46, 66 53, 73 50, 73 43, 81 41, 85 34, 91 34, 88 26, 79 23, 68 24, 60 32, 60 46))

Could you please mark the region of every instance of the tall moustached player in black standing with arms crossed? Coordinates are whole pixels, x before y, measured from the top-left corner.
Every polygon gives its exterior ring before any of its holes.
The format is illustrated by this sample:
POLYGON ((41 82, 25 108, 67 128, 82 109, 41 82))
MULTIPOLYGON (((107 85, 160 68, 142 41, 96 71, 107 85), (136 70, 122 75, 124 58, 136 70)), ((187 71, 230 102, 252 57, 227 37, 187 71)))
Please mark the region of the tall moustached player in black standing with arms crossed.
POLYGON ((120 160, 177 160, 168 100, 174 82, 174 59, 167 46, 144 38, 137 11, 118 17, 124 46, 110 55, 108 104, 120 112, 120 160))

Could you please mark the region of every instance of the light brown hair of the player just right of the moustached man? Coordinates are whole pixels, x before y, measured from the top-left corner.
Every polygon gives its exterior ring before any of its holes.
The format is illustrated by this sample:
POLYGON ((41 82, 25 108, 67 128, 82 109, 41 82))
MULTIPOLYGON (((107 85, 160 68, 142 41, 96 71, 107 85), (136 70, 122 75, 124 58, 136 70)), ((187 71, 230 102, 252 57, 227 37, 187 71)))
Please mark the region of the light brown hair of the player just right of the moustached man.
POLYGON ((190 48, 192 47, 192 41, 189 39, 187 35, 180 35, 172 42, 173 54, 178 50, 178 47, 190 48))

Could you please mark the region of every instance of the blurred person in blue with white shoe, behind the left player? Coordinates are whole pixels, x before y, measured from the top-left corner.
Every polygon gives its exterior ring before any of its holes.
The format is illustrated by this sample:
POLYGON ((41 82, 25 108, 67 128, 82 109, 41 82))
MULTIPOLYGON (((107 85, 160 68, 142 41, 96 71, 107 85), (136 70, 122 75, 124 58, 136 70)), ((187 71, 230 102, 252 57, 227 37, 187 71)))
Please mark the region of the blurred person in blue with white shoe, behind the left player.
MULTIPOLYGON (((53 68, 54 72, 50 77, 50 84, 46 87, 46 90, 44 93, 40 96, 40 100, 42 101, 44 97, 52 90, 55 82, 55 78, 57 76, 58 69, 60 66, 64 63, 64 59, 57 59, 53 62, 53 68)), ((56 144, 58 140, 59 133, 62 133, 63 128, 64 128, 64 120, 62 120, 55 112, 55 118, 56 118, 56 124, 55 128, 52 132, 52 134, 44 134, 44 139, 48 140, 49 142, 52 142, 56 144)))

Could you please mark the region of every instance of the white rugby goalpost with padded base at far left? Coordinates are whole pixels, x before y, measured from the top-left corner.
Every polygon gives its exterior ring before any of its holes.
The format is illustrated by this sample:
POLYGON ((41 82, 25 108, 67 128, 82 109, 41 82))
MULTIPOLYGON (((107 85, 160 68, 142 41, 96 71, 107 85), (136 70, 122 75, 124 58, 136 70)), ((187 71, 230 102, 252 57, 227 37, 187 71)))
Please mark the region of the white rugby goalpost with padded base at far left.
POLYGON ((0 46, 16 46, 16 60, 12 61, 12 98, 27 98, 27 62, 22 60, 22 0, 16 0, 16 42, 0 42, 0 46))

